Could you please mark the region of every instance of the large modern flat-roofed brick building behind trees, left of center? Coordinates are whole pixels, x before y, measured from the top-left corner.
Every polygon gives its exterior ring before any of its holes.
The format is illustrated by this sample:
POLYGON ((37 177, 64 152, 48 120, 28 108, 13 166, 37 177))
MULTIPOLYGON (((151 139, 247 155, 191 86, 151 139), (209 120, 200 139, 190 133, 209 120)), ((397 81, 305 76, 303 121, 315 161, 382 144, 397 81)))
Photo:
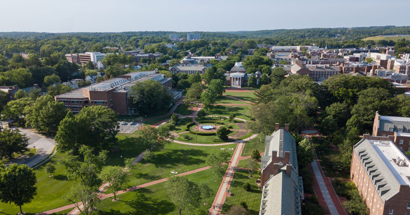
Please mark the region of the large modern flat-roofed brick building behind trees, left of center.
POLYGON ((133 72, 106 81, 94 83, 84 88, 55 96, 73 113, 78 113, 85 106, 102 105, 113 109, 118 114, 133 114, 128 104, 128 94, 133 85, 146 80, 159 81, 170 90, 171 78, 158 71, 133 72))

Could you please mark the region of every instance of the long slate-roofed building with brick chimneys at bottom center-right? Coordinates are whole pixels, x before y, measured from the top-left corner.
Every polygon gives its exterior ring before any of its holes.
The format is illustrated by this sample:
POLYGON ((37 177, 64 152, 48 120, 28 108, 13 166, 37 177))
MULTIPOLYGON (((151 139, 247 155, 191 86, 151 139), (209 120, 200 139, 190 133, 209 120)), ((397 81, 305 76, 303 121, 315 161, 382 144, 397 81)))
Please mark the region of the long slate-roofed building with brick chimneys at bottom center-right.
POLYGON ((265 153, 261 159, 262 198, 260 215, 301 214, 304 198, 302 177, 299 177, 296 143, 289 124, 275 124, 275 132, 265 137, 265 153))

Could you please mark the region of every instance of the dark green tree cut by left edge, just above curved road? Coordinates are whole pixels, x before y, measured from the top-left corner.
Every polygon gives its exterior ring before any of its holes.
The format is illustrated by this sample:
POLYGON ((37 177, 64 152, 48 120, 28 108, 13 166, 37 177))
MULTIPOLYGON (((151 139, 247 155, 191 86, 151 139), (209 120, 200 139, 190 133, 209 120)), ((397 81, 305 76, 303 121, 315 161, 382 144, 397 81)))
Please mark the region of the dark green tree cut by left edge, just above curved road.
POLYGON ((14 153, 27 152, 29 138, 8 128, 0 132, 0 158, 12 159, 14 153))

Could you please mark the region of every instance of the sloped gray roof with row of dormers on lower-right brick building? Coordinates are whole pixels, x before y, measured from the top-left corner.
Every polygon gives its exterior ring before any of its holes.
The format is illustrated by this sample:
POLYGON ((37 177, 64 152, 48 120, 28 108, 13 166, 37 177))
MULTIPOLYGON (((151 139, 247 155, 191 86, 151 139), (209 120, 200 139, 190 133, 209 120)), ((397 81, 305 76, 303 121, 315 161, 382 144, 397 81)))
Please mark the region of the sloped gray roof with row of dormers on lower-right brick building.
MULTIPOLYGON (((389 141, 384 141, 389 142, 389 141)), ((405 184, 405 181, 401 178, 400 174, 394 174, 396 172, 395 168, 389 162, 387 158, 387 151, 391 149, 399 152, 397 146, 390 141, 391 144, 388 146, 382 146, 386 152, 381 152, 379 147, 376 147, 374 144, 379 144, 374 140, 362 139, 354 146, 354 151, 359 157, 360 162, 365 168, 365 173, 371 178, 371 183, 373 183, 376 188, 380 198, 385 201, 396 195, 399 192, 400 184, 405 184), (396 148, 386 148, 386 147, 396 147, 396 148), (399 182, 400 181, 400 182, 399 182)), ((386 144, 387 145, 387 144, 386 144)), ((397 154, 400 155, 400 154, 397 154)), ((402 158, 405 156, 401 154, 402 158)), ((396 165, 396 164, 393 164, 396 165)), ((407 173, 410 176, 410 167, 408 168, 407 173)))

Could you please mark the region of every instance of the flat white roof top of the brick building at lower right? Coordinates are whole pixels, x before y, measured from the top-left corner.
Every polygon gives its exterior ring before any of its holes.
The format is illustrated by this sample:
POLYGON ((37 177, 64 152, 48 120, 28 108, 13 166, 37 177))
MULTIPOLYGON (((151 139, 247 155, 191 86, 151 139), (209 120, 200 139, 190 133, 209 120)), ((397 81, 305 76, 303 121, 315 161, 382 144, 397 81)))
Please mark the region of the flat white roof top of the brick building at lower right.
POLYGON ((401 152, 393 141, 368 140, 380 156, 384 164, 391 171, 393 176, 402 185, 410 185, 410 160, 401 152), (395 161, 400 158, 404 161, 404 166, 399 166, 395 161))

